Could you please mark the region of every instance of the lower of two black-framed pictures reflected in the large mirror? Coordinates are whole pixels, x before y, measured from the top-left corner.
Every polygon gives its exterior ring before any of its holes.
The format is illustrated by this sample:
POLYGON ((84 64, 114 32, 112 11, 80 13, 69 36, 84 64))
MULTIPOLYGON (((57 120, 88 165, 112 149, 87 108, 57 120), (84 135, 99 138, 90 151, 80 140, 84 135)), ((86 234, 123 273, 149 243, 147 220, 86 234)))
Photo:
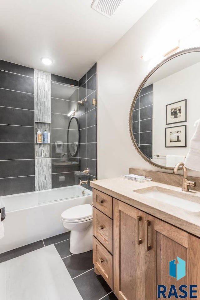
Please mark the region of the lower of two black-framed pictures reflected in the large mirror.
POLYGON ((165 128, 165 147, 187 147, 186 125, 165 128))

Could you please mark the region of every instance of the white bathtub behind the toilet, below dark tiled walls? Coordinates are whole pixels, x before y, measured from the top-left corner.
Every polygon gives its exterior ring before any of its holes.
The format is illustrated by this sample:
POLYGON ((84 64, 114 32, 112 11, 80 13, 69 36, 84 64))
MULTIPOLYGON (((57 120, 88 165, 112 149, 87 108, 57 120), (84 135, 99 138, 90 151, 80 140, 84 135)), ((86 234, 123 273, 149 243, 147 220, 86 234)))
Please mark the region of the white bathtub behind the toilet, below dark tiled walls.
POLYGON ((80 185, 0 197, 6 209, 0 253, 66 232, 61 213, 91 203, 92 192, 80 185))

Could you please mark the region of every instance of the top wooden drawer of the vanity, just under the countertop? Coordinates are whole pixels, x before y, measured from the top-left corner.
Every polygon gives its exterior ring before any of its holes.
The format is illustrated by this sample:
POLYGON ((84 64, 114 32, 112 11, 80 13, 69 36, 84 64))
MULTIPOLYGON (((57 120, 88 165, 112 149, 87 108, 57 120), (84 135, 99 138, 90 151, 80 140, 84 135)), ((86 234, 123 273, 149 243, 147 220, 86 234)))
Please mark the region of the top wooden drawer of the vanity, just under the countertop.
POLYGON ((113 218, 113 198, 93 188, 93 206, 113 218))

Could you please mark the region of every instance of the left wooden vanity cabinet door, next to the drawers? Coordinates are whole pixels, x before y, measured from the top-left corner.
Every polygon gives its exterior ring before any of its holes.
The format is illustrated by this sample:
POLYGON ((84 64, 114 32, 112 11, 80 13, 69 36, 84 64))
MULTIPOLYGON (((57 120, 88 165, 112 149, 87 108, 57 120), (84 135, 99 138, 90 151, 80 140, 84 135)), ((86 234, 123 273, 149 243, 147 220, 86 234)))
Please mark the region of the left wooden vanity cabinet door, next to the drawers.
POLYGON ((114 199, 113 285, 119 300, 144 300, 144 212, 114 199))

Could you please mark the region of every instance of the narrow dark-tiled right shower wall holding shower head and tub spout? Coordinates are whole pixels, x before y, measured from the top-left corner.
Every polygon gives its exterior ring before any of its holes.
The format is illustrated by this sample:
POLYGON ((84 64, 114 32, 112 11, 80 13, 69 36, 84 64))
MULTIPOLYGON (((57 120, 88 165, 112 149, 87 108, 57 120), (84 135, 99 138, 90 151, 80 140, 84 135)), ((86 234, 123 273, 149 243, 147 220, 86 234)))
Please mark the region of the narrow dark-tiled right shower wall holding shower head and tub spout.
MULTIPOLYGON (((79 170, 83 172, 88 168, 91 181, 97 178, 97 107, 93 105, 93 99, 97 100, 97 64, 79 80, 79 87, 79 100, 87 99, 83 106, 79 105, 78 111, 79 170)), ((89 183, 87 187, 90 188, 89 183)))

